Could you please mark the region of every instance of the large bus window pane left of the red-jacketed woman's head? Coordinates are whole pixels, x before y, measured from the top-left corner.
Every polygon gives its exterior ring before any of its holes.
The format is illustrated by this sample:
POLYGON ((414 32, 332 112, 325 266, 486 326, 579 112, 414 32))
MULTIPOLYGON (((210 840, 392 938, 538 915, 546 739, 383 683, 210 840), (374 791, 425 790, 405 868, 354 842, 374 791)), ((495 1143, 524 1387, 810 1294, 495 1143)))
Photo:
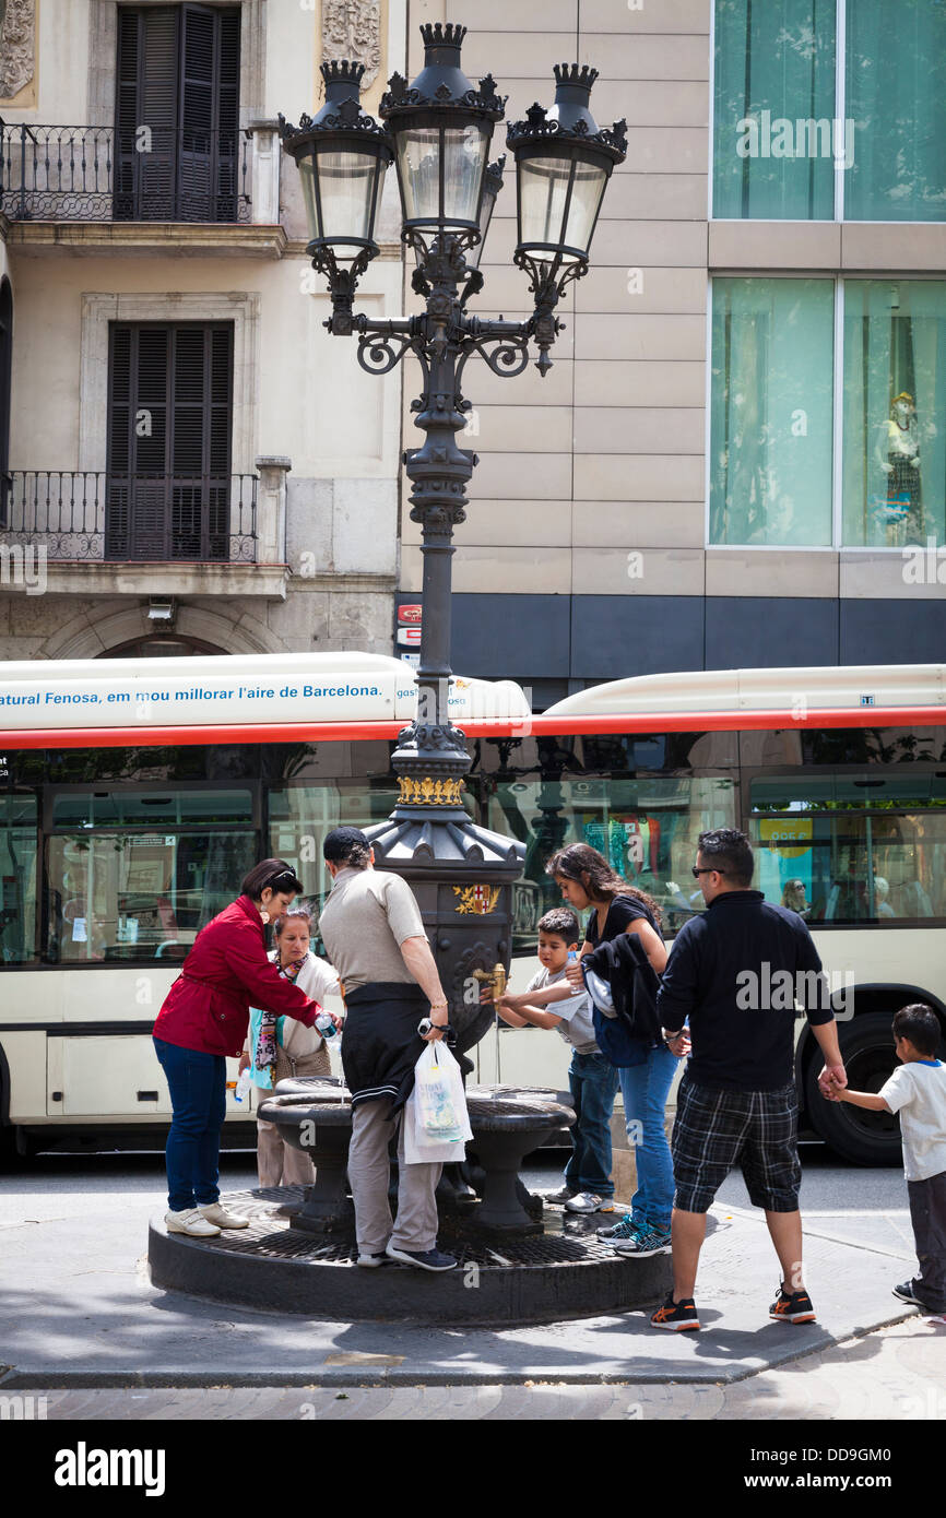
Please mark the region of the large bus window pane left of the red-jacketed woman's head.
POLYGON ((179 961, 240 894, 257 835, 61 833, 47 850, 50 959, 179 961))

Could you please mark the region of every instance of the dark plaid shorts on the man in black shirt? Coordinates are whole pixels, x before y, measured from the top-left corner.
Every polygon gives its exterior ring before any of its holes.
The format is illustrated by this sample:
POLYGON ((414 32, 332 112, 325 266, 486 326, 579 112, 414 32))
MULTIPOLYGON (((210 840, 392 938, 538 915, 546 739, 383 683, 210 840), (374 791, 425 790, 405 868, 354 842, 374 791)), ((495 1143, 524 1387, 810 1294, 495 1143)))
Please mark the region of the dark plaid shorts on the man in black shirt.
POLYGON ((799 1210, 802 1166, 794 1081, 776 1091, 723 1091, 685 1075, 673 1125, 674 1207, 705 1213, 733 1164, 755 1207, 799 1210))

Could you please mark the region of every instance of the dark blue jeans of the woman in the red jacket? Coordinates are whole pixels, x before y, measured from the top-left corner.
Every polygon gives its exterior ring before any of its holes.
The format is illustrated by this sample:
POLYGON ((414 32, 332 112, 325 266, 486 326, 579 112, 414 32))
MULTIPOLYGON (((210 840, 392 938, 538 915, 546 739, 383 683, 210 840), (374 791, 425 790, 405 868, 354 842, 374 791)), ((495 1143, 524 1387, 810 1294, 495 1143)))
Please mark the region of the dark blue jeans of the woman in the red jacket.
POLYGON ((222 1053, 181 1049, 155 1038, 167 1078, 173 1117, 164 1151, 172 1213, 220 1201, 217 1164, 226 1116, 226 1060, 222 1053))

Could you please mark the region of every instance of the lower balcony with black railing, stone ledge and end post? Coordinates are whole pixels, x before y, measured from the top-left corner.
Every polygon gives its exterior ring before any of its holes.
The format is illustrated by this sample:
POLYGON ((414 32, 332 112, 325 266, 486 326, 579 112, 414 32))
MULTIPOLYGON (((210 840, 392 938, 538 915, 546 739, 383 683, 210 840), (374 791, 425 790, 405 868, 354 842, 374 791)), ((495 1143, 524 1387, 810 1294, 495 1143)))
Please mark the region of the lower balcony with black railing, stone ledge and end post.
POLYGON ((0 477, 0 554, 39 556, 50 592, 285 595, 284 474, 0 477), (261 528, 261 533, 258 531, 261 528))

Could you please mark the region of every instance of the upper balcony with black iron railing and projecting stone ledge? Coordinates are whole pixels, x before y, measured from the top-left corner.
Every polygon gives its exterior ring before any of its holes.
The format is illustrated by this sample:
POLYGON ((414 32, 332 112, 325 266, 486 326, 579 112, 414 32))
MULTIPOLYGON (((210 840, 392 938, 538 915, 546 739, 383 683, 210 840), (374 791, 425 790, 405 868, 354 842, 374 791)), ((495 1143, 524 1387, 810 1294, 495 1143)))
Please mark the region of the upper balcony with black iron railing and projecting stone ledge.
POLYGON ((281 255, 279 141, 240 132, 0 121, 0 213, 33 249, 281 255))

